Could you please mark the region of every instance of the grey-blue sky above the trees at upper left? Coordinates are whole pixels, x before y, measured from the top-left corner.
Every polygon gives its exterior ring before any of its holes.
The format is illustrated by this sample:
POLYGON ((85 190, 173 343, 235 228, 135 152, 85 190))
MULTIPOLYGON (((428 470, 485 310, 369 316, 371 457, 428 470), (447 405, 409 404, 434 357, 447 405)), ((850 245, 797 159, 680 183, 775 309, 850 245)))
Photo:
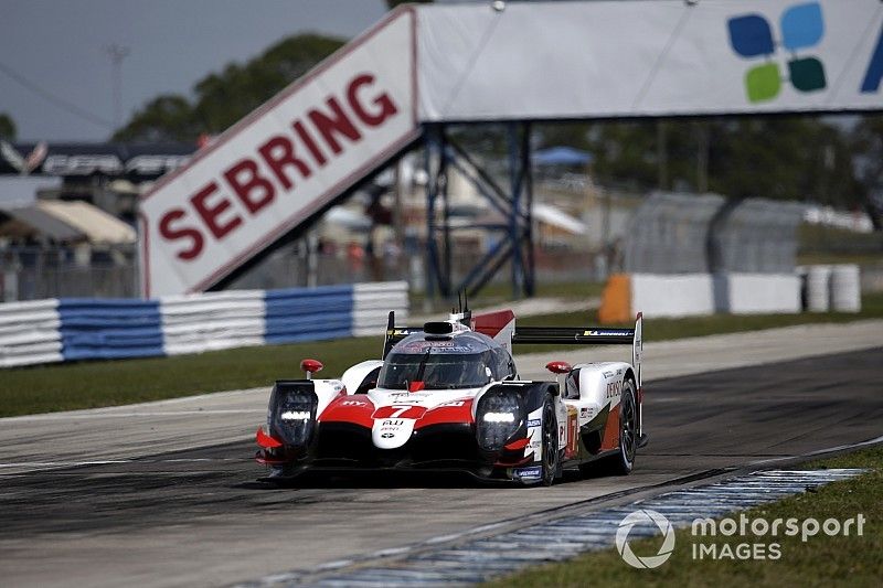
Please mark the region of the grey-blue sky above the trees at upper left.
POLYGON ((161 94, 245 62, 288 35, 353 38, 386 12, 383 0, 0 0, 0 113, 18 140, 103 141, 120 118, 161 94))

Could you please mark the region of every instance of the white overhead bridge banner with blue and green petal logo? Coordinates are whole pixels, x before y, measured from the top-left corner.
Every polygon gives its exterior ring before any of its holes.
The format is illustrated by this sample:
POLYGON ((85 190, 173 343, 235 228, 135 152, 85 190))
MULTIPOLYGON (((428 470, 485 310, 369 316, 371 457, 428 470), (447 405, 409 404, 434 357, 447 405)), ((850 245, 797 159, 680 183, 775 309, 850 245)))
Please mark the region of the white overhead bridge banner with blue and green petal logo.
POLYGON ((427 121, 883 107, 879 0, 432 6, 418 31, 427 121))

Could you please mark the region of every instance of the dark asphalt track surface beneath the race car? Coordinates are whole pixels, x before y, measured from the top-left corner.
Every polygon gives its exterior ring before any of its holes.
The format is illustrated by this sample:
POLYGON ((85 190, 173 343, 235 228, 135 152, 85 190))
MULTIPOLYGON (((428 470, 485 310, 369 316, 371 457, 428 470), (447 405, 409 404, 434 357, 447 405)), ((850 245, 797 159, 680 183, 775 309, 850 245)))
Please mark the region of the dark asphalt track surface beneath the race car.
MULTIPOLYGON (((713 468, 883 435, 883 349, 657 381, 626 478, 551 489, 331 480, 268 490, 251 442, 0 477, 11 586, 226 585, 713 468)), ((1 473, 1 471, 0 471, 1 473)))

